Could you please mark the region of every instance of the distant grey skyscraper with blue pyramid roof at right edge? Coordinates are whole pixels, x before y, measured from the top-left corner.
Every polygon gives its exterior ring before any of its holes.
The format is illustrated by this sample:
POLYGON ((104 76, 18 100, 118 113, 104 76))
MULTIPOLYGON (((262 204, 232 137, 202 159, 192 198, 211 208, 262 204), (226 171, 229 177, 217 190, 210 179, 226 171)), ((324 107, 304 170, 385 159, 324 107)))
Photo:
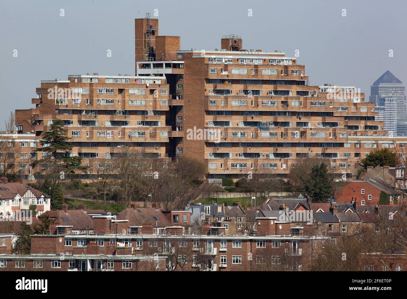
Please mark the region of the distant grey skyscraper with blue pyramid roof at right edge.
MULTIPOLYGON (((379 79, 374 81, 373 85, 370 87, 370 97, 369 101, 374 102, 374 105, 378 107, 378 111, 382 108, 384 109, 385 103, 387 102, 388 109, 384 116, 388 116, 389 119, 383 119, 385 121, 385 127, 387 122, 387 127, 393 126, 393 110, 392 100, 395 99, 397 103, 397 122, 396 131, 394 134, 397 135, 407 135, 407 105, 406 105, 406 94, 405 87, 403 83, 396 78, 391 72, 386 71, 379 79), (379 108, 382 107, 382 108, 379 108)), ((383 110, 384 111, 384 110, 383 110)), ((379 112, 380 117, 380 112, 379 112)), ((392 131, 390 129, 387 129, 392 131)))

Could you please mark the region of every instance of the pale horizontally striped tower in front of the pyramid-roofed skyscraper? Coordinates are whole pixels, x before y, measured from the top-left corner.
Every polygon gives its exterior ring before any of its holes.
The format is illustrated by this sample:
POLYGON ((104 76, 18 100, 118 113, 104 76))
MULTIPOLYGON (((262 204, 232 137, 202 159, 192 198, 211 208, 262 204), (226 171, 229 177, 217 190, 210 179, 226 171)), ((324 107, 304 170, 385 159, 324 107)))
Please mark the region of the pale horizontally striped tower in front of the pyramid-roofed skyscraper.
POLYGON ((397 135, 397 99, 380 98, 376 111, 379 112, 376 119, 384 121, 384 129, 387 134, 397 135))

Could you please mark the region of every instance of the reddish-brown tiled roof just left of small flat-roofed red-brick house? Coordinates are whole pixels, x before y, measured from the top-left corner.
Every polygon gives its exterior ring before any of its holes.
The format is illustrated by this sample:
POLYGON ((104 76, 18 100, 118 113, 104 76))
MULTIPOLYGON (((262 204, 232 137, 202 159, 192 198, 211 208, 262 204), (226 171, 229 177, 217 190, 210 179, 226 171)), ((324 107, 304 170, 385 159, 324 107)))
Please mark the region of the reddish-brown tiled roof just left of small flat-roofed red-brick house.
POLYGON ((138 207, 136 210, 132 207, 127 208, 116 216, 116 220, 129 220, 129 226, 143 224, 151 224, 153 227, 171 226, 170 221, 162 214, 161 210, 153 207, 138 207))

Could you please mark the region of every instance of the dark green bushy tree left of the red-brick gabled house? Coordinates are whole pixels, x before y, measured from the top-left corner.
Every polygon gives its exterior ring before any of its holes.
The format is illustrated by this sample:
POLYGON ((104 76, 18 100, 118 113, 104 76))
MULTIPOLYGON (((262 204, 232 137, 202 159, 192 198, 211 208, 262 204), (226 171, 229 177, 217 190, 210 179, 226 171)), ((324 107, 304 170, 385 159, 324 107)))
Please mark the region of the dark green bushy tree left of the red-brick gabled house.
POLYGON ((326 202, 333 194, 332 178, 325 163, 312 166, 310 177, 301 177, 301 180, 306 196, 314 203, 326 202))

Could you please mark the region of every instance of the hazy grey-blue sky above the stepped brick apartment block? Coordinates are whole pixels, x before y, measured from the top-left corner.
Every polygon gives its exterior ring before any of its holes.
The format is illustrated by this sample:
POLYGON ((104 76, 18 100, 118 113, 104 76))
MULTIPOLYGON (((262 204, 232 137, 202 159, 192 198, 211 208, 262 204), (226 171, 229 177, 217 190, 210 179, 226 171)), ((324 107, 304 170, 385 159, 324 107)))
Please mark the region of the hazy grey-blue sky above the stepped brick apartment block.
POLYGON ((386 70, 407 82, 406 8, 405 0, 0 0, 0 128, 11 110, 35 107, 41 80, 134 74, 134 19, 154 9, 159 34, 181 36, 182 50, 220 48, 230 33, 244 49, 288 57, 298 49, 310 84, 352 85, 368 98, 386 70))

